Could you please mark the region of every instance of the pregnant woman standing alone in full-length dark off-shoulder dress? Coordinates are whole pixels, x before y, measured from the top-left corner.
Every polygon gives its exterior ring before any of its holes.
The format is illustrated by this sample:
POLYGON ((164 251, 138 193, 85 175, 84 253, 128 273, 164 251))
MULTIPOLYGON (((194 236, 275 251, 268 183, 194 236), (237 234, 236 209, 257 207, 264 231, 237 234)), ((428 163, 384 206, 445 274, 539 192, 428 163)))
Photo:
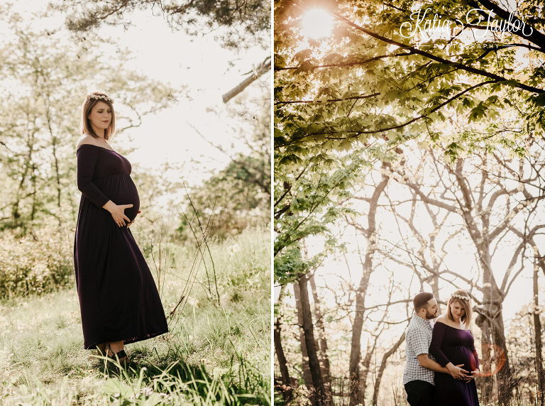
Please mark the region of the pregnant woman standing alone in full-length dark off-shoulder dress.
POLYGON ((84 348, 126 365, 124 344, 164 334, 168 327, 155 281, 128 228, 140 200, 131 163, 107 141, 115 130, 112 102, 94 92, 82 106, 74 267, 84 348))

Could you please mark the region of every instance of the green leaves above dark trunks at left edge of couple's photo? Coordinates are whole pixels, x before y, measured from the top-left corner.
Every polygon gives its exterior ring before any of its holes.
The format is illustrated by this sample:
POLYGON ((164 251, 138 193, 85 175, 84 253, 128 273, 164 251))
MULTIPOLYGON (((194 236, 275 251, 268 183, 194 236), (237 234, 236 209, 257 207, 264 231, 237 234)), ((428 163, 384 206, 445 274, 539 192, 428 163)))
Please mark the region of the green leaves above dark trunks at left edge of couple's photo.
POLYGON ((321 234, 327 241, 325 251, 334 249, 336 238, 329 225, 352 214, 348 205, 338 203, 351 196, 353 182, 369 165, 360 153, 301 158, 292 151, 288 146, 275 154, 275 281, 281 284, 306 273, 321 258, 301 258, 304 238, 321 234))

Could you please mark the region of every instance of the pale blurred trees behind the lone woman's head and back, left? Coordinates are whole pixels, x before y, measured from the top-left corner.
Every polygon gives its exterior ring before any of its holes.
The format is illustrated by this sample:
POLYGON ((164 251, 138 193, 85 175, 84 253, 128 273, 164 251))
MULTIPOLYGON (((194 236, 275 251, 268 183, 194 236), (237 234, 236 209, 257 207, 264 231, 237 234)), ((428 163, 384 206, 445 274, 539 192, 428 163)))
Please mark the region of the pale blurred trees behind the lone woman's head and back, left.
POLYGON ((177 91, 127 71, 130 55, 124 50, 116 60, 105 60, 99 49, 107 43, 73 45, 62 35, 35 31, 37 20, 23 21, 9 6, 1 11, 6 39, 0 45, 0 229, 19 235, 34 226, 71 229, 80 197, 75 144, 85 92, 102 89, 128 108, 117 111, 120 134, 168 106, 177 91))

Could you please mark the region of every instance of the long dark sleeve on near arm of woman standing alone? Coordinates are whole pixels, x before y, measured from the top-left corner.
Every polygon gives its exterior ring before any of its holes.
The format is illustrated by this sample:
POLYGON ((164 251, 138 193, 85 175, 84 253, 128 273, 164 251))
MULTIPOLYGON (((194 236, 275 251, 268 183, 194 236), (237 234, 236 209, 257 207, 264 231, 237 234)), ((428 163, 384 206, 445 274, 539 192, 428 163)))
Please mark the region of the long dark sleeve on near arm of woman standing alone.
POLYGON ((102 208, 109 201, 104 193, 93 183, 94 168, 99 158, 98 148, 89 148, 83 144, 76 151, 77 155, 77 188, 87 199, 102 208))

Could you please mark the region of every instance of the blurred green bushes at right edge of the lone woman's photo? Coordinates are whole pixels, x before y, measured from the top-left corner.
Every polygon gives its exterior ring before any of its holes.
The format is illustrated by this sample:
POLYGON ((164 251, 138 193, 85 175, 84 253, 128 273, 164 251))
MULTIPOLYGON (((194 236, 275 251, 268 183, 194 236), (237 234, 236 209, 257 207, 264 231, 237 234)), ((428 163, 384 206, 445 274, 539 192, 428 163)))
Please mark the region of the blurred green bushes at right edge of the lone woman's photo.
MULTIPOLYGON (((241 119, 238 133, 244 151, 230 153, 216 147, 228 154, 231 162, 192 188, 186 198, 187 217, 194 218, 197 210, 202 224, 210 221, 210 236, 226 238, 248 226, 270 222, 270 99, 268 94, 264 97, 265 106, 260 108, 259 116, 251 114, 246 103, 229 110, 241 119)), ((183 238, 192 239, 187 220, 182 221, 178 231, 183 238)))

